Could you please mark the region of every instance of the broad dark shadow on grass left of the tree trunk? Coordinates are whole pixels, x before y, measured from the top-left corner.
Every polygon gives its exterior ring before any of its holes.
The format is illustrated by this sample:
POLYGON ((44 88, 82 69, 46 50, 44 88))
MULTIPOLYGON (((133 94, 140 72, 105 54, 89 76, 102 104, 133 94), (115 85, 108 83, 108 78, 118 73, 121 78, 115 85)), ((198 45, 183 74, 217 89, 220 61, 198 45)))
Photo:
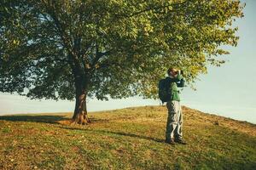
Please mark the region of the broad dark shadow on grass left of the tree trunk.
POLYGON ((59 121, 70 120, 66 116, 51 115, 16 115, 16 116, 0 116, 0 121, 10 122, 44 122, 49 124, 59 124, 59 121))

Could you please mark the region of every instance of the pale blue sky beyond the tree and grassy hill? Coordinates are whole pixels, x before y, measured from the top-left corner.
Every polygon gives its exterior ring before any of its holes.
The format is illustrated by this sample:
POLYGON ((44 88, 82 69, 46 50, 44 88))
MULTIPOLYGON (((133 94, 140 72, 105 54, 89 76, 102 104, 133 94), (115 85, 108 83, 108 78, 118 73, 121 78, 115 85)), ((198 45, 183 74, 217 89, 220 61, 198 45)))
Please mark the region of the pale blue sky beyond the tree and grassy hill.
MULTIPOLYGON (((196 91, 184 88, 182 104, 191 108, 256 123, 256 1, 246 0, 245 17, 236 21, 240 37, 221 67, 209 66, 208 74, 195 83, 196 91)), ((119 109, 135 105, 160 105, 153 99, 89 100, 89 111, 119 109)), ((0 93, 0 115, 73 111, 73 101, 29 100, 15 94, 0 93)))

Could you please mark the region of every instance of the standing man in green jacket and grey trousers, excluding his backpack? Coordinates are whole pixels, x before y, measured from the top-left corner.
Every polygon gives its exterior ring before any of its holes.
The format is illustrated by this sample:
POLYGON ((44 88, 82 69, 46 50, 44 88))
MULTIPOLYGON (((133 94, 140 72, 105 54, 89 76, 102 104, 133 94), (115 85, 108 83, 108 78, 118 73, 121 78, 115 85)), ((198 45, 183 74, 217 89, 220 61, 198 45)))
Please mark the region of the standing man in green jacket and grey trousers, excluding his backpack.
POLYGON ((171 98, 167 101, 168 118, 166 123, 166 143, 186 144, 183 140, 183 113, 180 105, 179 90, 184 87, 184 80, 181 71, 170 68, 167 71, 169 77, 166 78, 170 84, 171 98))

